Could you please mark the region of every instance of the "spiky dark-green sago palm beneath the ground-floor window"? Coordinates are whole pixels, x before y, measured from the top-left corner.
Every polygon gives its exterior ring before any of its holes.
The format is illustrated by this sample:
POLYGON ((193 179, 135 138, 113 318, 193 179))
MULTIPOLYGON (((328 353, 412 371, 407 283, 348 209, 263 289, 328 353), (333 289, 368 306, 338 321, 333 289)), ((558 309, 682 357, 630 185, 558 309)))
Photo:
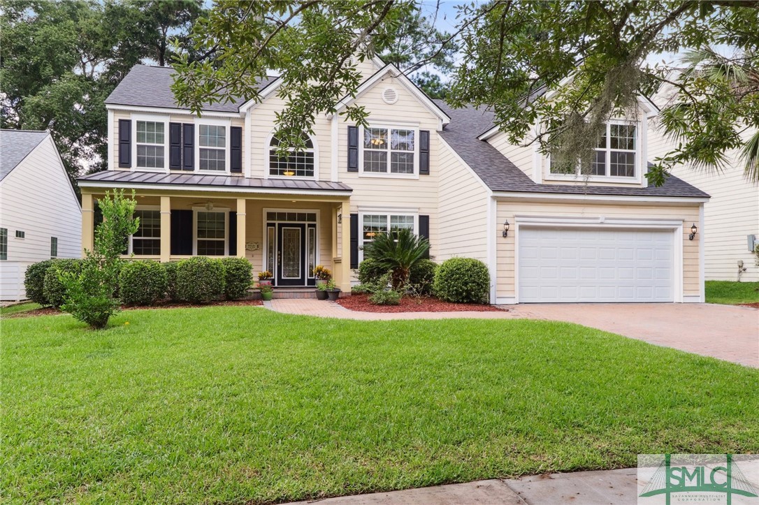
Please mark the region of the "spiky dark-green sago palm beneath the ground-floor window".
POLYGON ((391 272, 393 290, 402 290, 408 282, 408 274, 420 259, 427 256, 430 242, 417 237, 408 228, 378 234, 364 246, 364 256, 376 262, 377 267, 391 272))

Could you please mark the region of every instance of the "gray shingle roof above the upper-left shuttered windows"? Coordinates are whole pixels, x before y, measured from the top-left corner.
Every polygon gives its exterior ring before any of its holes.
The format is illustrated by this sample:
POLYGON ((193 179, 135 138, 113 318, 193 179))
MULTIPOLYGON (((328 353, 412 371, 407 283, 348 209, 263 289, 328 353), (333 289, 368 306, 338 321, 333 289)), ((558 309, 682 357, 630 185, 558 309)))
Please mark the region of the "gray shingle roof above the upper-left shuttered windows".
MULTIPOLYGON (((118 83, 116 89, 106 99, 109 105, 134 105, 137 107, 178 108, 172 93, 174 82, 172 67, 151 67, 150 65, 134 65, 129 74, 118 83)), ((263 89, 272 83, 276 77, 267 77, 259 83, 263 89)), ((245 99, 235 99, 228 103, 214 103, 204 107, 206 111, 237 112, 245 99)))

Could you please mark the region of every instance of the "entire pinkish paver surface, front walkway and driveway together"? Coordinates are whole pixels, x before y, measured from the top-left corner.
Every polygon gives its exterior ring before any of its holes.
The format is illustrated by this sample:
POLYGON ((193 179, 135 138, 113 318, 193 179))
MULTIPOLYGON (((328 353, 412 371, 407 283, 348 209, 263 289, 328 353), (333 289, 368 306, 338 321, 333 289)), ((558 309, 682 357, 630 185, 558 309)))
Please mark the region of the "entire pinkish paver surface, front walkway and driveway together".
POLYGON ((320 300, 272 300, 276 312, 320 317, 392 319, 546 319, 575 322, 688 353, 759 368, 759 310, 711 303, 552 303, 508 306, 509 312, 355 312, 320 300))

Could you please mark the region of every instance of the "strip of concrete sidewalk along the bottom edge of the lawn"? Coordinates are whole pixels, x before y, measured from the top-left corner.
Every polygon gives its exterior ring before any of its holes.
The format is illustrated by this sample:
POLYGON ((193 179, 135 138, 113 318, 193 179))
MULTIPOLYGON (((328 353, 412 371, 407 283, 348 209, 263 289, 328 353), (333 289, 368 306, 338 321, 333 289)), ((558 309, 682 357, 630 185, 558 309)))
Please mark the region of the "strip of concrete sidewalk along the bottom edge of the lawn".
POLYGON ((487 503, 492 505, 632 505, 638 495, 637 469, 553 473, 301 501, 320 505, 404 505, 406 503, 487 503))

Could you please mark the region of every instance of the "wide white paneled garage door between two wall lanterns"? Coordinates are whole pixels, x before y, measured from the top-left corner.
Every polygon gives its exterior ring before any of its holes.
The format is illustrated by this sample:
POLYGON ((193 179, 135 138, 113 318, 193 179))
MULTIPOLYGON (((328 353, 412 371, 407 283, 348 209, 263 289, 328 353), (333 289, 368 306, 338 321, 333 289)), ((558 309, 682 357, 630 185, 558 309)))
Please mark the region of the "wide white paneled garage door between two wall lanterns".
POLYGON ((672 231, 521 227, 519 302, 672 302, 672 231))

